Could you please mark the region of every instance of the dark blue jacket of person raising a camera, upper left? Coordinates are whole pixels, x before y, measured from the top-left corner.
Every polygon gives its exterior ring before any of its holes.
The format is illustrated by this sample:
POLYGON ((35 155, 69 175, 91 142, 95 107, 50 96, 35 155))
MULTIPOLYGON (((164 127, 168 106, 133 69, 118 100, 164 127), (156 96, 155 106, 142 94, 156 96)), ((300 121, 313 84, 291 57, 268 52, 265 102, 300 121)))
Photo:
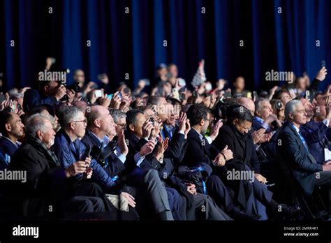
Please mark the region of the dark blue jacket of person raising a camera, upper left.
POLYGON ((28 89, 24 93, 23 110, 29 112, 32 108, 38 105, 49 104, 55 106, 59 103, 54 96, 44 96, 39 94, 36 89, 28 89))

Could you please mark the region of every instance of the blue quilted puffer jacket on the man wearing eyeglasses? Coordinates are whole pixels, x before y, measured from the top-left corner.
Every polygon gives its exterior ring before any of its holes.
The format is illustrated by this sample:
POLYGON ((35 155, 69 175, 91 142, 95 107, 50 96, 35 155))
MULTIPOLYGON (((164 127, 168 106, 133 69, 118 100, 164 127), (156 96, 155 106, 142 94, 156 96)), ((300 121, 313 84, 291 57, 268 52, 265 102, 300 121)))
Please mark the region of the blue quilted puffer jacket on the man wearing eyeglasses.
MULTIPOLYGON (((67 168, 76 161, 84 161, 86 147, 79 139, 72 142, 66 132, 61 129, 55 137, 54 152, 61 165, 64 168, 67 168)), ((90 166, 93 169, 91 179, 94 179, 94 181, 100 186, 103 186, 103 189, 108 190, 115 185, 115 182, 112 182, 112 178, 105 172, 105 170, 103 170, 101 165, 99 165, 95 159, 91 160, 90 166)), ((76 177, 80 179, 82 174, 77 175, 76 177)))

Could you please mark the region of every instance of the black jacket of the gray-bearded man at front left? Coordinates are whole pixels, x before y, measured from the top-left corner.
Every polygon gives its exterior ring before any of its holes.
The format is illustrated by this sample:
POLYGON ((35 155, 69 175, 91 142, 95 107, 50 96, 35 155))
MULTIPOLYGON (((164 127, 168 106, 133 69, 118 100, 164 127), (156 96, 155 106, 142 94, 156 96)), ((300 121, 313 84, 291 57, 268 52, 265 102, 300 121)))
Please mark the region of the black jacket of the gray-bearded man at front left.
POLYGON ((65 196, 68 180, 64 169, 58 161, 29 142, 22 144, 13 154, 8 170, 27 172, 27 182, 8 182, 8 193, 16 198, 24 216, 41 215, 48 205, 54 205, 65 196))

